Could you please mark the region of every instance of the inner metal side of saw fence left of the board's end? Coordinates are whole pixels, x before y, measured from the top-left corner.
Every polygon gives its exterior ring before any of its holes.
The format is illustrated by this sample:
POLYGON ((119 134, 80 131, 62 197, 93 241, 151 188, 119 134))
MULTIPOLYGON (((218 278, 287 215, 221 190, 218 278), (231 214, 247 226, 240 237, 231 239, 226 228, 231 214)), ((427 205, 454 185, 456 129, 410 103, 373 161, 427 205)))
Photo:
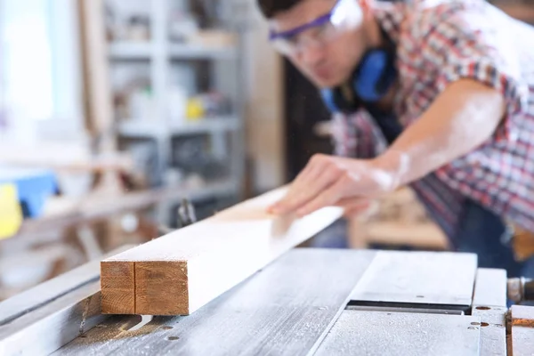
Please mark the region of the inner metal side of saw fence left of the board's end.
POLYGON ((99 283, 63 295, 0 327, 0 355, 47 355, 93 328, 101 315, 99 283))

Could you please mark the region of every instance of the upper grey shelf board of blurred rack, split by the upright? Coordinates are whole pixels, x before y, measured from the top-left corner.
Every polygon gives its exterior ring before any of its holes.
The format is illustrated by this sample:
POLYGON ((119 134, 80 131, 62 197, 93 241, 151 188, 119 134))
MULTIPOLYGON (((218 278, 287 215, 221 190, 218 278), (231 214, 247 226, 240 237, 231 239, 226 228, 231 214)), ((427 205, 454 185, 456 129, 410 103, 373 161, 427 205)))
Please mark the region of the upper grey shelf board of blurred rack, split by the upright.
MULTIPOLYGON (((109 57, 117 60, 150 60, 154 50, 151 43, 109 44, 109 57)), ((226 60, 237 57, 234 46, 206 46, 201 44, 169 44, 169 59, 215 59, 226 60)))

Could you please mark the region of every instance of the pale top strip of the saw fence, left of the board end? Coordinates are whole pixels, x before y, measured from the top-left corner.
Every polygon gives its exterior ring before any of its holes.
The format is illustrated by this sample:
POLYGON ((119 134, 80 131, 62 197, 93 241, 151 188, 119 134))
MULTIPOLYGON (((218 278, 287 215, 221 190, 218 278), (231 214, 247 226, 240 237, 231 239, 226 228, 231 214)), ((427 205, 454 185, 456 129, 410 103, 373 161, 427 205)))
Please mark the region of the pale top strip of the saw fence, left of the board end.
MULTIPOLYGON (((125 245, 111 251, 110 255, 124 252, 133 245, 125 245)), ((25 313, 32 312, 46 303, 50 303, 62 295, 76 290, 91 281, 97 281, 100 277, 100 261, 85 263, 72 271, 61 274, 56 278, 45 281, 25 292, 14 295, 0 303, 0 326, 11 320, 20 318, 25 313)))

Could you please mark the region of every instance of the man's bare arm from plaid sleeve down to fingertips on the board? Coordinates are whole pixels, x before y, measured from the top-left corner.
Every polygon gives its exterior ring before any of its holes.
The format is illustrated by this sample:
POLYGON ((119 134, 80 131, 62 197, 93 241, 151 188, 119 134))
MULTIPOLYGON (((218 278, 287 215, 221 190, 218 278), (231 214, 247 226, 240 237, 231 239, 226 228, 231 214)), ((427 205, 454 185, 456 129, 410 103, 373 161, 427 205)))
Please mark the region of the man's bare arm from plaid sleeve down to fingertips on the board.
POLYGON ((416 181, 488 140, 504 117, 501 93, 473 79, 450 85, 392 147, 373 159, 319 155, 310 161, 271 213, 310 214, 351 206, 416 181))

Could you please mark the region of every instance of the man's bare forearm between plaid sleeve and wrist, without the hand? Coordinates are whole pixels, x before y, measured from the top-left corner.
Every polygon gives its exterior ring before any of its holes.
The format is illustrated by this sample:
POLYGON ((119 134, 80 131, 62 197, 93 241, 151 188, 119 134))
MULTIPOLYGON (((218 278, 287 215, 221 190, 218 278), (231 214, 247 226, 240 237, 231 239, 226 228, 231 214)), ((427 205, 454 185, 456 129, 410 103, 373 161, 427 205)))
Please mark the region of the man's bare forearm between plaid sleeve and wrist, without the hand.
POLYGON ((505 110, 505 99, 497 90, 473 79, 460 79, 376 163, 395 169, 398 185, 416 181, 488 140, 505 110))

